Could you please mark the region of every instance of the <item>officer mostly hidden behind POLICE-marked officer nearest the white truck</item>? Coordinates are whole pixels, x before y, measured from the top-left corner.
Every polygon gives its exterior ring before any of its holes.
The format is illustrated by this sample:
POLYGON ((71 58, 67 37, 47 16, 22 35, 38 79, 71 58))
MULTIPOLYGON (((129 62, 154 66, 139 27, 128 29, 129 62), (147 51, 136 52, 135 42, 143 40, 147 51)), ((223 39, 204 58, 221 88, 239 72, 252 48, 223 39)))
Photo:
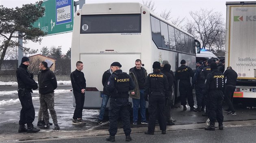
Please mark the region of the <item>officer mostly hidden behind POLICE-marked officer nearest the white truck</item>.
MULTIPOLYGON (((204 68, 202 69, 201 78, 203 78, 204 81, 205 81, 207 75, 211 72, 211 71, 210 71, 210 63, 211 63, 211 62, 213 62, 213 59, 208 59, 208 61, 207 61, 207 63, 206 63, 207 67, 204 67, 204 68)), ((204 84, 204 88, 205 88, 205 84, 204 84)), ((208 107, 207 107, 207 106, 208 106, 208 105, 207 105, 207 93, 206 93, 206 94, 203 93, 203 97, 202 97, 202 108, 201 108, 201 110, 204 111, 204 107, 205 107, 205 111, 206 111, 206 112, 205 112, 204 114, 202 114, 202 116, 208 116, 208 107)))

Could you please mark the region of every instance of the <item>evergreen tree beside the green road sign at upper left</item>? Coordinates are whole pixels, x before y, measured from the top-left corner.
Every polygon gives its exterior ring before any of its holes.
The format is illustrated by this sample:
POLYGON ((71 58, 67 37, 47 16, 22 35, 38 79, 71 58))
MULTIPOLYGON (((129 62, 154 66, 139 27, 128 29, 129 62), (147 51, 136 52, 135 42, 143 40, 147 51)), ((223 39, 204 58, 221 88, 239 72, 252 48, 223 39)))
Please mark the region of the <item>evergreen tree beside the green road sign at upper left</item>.
MULTIPOLYGON (((0 70, 7 49, 19 46, 19 42, 14 38, 23 38, 24 42, 41 42, 39 37, 44 35, 43 31, 32 26, 44 14, 45 8, 41 5, 42 1, 37 4, 23 4, 21 8, 6 8, 0 5, 0 70), (18 36, 17 32, 21 32, 21 35, 18 36)), ((22 50, 37 52, 26 47, 22 47, 22 50)))

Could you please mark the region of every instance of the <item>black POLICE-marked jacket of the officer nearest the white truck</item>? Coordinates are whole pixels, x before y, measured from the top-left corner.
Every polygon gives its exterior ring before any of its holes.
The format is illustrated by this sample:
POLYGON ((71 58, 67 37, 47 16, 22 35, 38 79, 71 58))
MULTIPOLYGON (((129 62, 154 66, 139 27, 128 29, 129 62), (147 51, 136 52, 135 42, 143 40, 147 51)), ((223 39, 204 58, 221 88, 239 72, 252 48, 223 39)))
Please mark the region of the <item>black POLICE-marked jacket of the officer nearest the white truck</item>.
POLYGON ((207 75, 203 92, 206 94, 214 90, 221 90, 223 93, 225 90, 225 76, 218 69, 212 70, 207 75))

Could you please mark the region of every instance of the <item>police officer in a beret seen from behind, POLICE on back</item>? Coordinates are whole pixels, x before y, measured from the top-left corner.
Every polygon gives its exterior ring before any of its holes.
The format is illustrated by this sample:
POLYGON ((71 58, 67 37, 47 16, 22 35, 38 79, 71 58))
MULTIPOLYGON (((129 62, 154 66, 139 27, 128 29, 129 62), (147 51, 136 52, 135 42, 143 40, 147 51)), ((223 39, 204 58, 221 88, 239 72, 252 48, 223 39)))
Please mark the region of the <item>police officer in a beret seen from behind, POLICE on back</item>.
POLYGON ((108 79, 106 86, 110 93, 110 108, 109 108, 109 137, 107 141, 115 141, 115 134, 117 133, 117 119, 119 114, 123 122, 124 133, 126 135, 126 141, 131 141, 130 137, 130 103, 129 90, 134 90, 135 84, 132 78, 122 72, 120 69, 122 65, 119 62, 113 62, 111 64, 111 70, 113 74, 108 79))

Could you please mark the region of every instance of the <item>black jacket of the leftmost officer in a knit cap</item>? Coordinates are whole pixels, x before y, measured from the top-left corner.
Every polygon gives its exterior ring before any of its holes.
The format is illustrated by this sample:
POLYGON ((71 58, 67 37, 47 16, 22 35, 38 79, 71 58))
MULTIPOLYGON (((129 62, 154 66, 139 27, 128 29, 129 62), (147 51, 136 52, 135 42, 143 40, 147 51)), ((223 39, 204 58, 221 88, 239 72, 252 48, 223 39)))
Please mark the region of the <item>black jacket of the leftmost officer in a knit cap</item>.
POLYGON ((18 88, 23 88, 25 90, 35 90, 38 88, 37 82, 33 80, 32 74, 28 71, 28 66, 23 63, 20 64, 16 71, 18 88))

